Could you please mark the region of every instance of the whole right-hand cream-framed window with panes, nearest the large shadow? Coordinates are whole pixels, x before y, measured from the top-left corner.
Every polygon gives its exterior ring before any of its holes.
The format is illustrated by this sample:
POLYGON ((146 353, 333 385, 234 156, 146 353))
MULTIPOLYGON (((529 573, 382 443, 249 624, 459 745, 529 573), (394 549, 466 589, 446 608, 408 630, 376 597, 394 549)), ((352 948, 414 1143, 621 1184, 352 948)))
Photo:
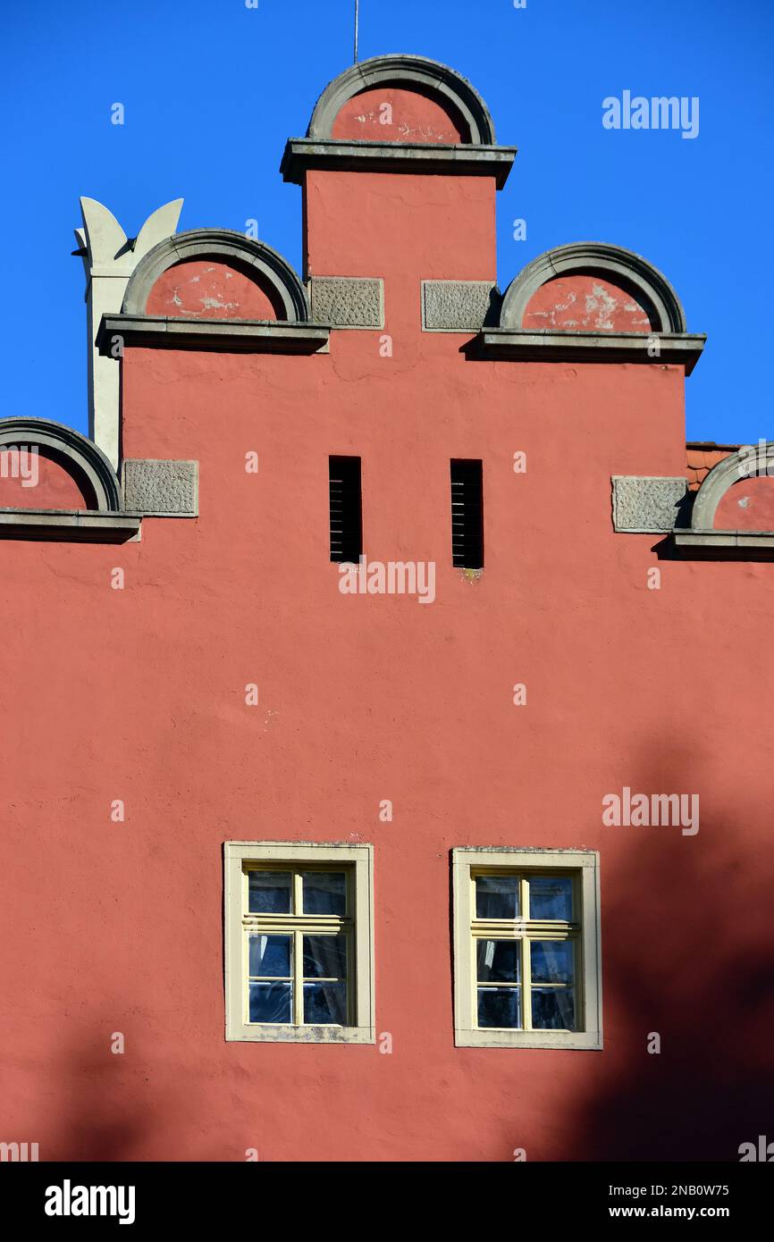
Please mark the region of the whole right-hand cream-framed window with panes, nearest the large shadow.
POLYGON ((601 1048, 599 854, 452 851, 455 1043, 601 1048))

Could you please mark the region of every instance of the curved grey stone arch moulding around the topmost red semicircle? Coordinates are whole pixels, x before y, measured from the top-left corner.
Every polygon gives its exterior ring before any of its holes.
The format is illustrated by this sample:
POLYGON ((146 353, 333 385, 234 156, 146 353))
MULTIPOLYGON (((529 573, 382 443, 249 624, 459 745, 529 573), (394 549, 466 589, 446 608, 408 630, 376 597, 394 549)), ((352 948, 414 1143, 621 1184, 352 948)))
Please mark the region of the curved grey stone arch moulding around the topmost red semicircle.
POLYGON ((430 94, 441 104, 450 106, 453 118, 467 130, 467 140, 489 147, 496 142, 489 109, 472 82, 448 65, 405 52, 358 61, 333 78, 314 106, 307 137, 330 138, 335 118, 344 104, 353 96, 376 86, 405 87, 420 94, 430 94))

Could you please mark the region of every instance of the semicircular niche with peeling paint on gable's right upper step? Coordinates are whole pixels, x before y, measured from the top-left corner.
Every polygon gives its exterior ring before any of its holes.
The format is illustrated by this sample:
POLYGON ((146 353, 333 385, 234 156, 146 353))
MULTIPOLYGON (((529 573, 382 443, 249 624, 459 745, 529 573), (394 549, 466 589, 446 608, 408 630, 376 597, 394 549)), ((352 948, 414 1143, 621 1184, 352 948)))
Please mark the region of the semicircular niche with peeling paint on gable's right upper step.
POLYGON ((605 242, 571 242, 539 255, 503 297, 512 330, 685 333, 682 303, 641 255, 605 242))

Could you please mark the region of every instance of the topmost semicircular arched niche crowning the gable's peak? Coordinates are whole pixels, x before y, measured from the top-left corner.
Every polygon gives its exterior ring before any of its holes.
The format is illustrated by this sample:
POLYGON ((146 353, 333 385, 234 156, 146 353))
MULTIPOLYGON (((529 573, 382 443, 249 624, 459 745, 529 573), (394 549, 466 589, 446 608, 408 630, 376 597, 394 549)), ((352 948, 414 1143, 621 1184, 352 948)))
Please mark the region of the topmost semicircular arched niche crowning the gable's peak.
POLYGON ((339 73, 321 94, 308 138, 494 145, 475 86, 424 56, 375 56, 339 73), (385 123, 383 104, 391 108, 385 123), (362 118, 362 119, 359 119, 362 118))

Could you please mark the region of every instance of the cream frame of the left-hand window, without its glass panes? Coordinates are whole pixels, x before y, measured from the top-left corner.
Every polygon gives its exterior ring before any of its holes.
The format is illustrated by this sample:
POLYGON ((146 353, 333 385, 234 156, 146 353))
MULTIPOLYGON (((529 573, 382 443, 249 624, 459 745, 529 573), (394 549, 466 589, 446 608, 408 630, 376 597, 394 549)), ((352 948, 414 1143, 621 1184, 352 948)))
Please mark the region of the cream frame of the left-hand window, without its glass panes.
MULTIPOLYGON (((225 1001, 226 1041, 250 1043, 375 1043, 374 1007, 374 847, 371 845, 337 845, 312 841, 226 841, 224 842, 224 939, 225 939, 225 1001), (255 864, 255 866, 253 866, 255 864), (255 1023, 246 1021, 247 991, 246 944, 250 928, 247 918, 247 876, 250 869, 335 871, 347 872, 348 915, 352 917, 352 951, 348 948, 348 1018, 347 1026, 314 1023, 296 1026, 285 1022, 255 1023)), ((256 922, 276 922, 277 933, 291 933, 294 943, 303 934, 314 934, 329 918, 337 917, 291 914, 261 915, 256 922), (308 930, 304 933, 304 919, 308 930)), ((263 930, 263 928, 261 928, 263 930)), ((297 1016, 296 1009, 294 1016, 297 1016)))

